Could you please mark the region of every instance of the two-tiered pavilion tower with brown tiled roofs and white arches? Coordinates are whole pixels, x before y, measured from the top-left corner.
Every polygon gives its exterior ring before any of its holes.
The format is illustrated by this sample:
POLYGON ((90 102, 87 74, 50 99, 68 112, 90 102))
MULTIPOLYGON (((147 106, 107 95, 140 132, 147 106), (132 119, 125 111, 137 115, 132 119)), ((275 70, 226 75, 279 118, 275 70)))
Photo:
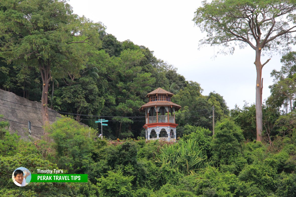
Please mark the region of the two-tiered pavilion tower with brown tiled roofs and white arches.
POLYGON ((175 111, 181 106, 171 102, 173 95, 160 87, 146 95, 149 102, 139 109, 145 111, 146 140, 176 141, 175 111))

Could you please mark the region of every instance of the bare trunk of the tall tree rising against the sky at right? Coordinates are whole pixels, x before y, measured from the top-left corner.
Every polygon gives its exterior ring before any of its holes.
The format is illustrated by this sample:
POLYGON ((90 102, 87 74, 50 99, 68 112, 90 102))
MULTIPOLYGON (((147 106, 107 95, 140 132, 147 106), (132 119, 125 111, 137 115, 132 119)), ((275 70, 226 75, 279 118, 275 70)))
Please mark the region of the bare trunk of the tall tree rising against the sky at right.
MULTIPOLYGON (((261 49, 261 48, 260 48, 261 49)), ((262 141, 262 88, 263 88, 263 79, 262 76, 262 68, 263 65, 260 61, 261 51, 256 49, 256 58, 255 58, 255 66, 257 71, 256 77, 256 131, 257 131, 257 141, 262 141)))

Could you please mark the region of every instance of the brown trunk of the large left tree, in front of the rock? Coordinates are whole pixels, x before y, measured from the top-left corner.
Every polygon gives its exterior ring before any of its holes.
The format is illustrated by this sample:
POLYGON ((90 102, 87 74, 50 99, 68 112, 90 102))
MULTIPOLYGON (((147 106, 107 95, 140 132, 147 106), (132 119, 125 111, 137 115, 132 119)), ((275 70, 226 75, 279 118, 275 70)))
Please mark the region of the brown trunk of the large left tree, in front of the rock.
POLYGON ((43 135, 48 141, 47 138, 47 130, 49 127, 49 116, 48 116, 48 87, 49 87, 49 81, 51 78, 50 74, 50 64, 49 62, 43 62, 39 60, 39 71, 41 73, 41 78, 42 78, 42 96, 41 96, 41 116, 43 120, 43 135))

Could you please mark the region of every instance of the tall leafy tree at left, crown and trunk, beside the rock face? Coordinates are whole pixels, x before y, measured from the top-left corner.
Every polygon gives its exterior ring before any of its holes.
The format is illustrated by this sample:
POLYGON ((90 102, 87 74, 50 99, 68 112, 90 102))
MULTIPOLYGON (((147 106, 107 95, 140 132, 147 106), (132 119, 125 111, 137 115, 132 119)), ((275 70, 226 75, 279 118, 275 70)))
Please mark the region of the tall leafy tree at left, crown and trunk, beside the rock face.
POLYGON ((42 79, 41 114, 46 135, 50 80, 69 73, 77 74, 83 69, 86 60, 82 43, 98 44, 104 27, 101 23, 72 14, 66 1, 0 0, 0 5, 0 56, 8 62, 30 65, 39 70, 42 79))

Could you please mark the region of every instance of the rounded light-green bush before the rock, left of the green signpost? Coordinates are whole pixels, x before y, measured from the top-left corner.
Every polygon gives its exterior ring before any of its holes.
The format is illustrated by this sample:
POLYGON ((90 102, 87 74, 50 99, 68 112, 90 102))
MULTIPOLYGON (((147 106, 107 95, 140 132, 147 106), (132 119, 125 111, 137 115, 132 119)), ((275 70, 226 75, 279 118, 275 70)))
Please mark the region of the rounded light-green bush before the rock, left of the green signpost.
POLYGON ((61 118, 50 127, 49 136, 58 166, 73 173, 83 173, 92 162, 94 130, 71 118, 61 118))

